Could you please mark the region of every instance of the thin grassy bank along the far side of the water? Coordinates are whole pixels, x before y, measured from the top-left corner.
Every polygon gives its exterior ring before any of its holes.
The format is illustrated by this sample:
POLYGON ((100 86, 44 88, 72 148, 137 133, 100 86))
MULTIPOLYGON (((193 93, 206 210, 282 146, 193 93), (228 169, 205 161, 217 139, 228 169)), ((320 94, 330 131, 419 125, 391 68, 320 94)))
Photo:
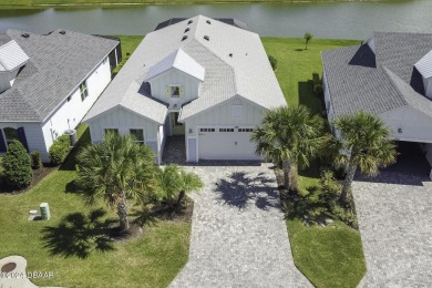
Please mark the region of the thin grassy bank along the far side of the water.
POLYGON ((294 3, 294 2, 356 2, 356 1, 382 1, 392 2, 398 0, 2 0, 0 8, 23 8, 29 6, 117 6, 117 4, 163 4, 163 3, 294 3))

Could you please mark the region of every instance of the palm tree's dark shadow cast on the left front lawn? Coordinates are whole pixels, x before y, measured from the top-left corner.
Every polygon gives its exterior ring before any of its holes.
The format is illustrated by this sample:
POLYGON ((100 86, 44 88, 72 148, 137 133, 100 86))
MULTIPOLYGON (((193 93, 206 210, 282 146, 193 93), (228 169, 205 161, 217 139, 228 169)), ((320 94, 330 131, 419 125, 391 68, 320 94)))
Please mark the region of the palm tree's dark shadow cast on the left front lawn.
POLYGON ((114 250, 110 237, 110 220, 102 220, 105 210, 95 209, 84 215, 72 213, 59 225, 42 229, 43 247, 52 256, 86 258, 92 251, 114 250))

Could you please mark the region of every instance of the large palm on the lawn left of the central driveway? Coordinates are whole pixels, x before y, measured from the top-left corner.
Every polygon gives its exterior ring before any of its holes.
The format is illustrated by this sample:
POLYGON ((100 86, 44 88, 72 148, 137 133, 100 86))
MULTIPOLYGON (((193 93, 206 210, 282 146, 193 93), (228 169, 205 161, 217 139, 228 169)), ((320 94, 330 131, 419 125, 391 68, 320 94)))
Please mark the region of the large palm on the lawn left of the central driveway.
POLYGON ((80 152, 76 184, 88 204, 102 198, 116 207, 121 230, 126 230, 127 199, 144 202, 155 188, 153 160, 150 146, 130 135, 107 133, 104 142, 80 152))

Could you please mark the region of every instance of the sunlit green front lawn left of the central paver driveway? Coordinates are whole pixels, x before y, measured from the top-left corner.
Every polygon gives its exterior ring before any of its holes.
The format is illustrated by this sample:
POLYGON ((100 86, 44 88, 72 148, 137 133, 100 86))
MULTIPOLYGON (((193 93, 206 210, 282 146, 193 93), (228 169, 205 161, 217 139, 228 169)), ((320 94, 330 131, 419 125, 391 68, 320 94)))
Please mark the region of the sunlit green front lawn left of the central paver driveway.
MULTIPOLYGON (((83 132, 81 128, 80 134, 83 132)), ((28 271, 52 271, 53 278, 34 279, 40 286, 166 287, 187 261, 189 223, 157 222, 145 227, 144 237, 116 243, 110 251, 90 249, 85 258, 51 255, 44 247, 44 227, 59 227, 72 213, 88 215, 100 207, 107 213, 103 218, 117 218, 103 203, 88 207, 71 193, 70 183, 75 178, 75 172, 69 169, 72 166, 63 165, 24 194, 0 195, 0 258, 21 255, 28 259, 28 271), (29 222, 28 212, 38 209, 42 202, 49 203, 51 219, 29 222)))

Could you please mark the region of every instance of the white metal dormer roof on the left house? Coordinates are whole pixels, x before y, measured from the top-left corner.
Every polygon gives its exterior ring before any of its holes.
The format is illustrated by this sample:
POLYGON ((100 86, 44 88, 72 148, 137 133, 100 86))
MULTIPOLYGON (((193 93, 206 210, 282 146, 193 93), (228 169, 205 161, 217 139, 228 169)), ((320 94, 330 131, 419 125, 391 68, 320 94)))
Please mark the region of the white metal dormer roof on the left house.
POLYGON ((29 59, 14 40, 0 47, 0 71, 13 71, 25 64, 29 59))

